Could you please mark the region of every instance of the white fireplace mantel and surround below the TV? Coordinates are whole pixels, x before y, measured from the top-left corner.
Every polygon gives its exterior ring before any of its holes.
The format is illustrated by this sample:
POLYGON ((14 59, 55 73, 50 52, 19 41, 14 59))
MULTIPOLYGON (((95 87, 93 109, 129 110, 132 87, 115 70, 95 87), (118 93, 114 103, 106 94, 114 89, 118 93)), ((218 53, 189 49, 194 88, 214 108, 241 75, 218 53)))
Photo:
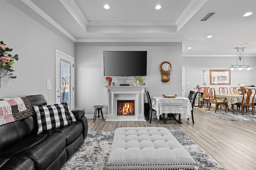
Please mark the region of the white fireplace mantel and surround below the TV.
POLYGON ((108 93, 106 121, 146 121, 144 93, 147 86, 105 86, 108 93), (117 100, 134 100, 134 115, 117 115, 117 100))

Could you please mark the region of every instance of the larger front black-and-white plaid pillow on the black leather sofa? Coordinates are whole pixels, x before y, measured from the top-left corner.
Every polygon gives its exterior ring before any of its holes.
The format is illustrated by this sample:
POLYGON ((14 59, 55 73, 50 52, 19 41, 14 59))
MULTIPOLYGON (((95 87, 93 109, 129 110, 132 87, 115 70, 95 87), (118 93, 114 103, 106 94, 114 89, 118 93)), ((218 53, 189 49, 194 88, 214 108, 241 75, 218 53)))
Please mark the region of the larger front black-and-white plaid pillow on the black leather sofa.
POLYGON ((47 106, 33 106, 36 111, 38 132, 37 134, 68 125, 64 104, 47 106))

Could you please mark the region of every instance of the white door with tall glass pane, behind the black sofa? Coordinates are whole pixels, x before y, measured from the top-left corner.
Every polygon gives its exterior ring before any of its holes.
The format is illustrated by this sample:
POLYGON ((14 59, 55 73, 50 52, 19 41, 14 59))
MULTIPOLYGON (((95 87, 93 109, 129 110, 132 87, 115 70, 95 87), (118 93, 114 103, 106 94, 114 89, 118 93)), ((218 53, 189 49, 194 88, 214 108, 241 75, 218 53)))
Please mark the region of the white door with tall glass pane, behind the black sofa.
POLYGON ((74 57, 56 49, 56 103, 74 109, 74 57))

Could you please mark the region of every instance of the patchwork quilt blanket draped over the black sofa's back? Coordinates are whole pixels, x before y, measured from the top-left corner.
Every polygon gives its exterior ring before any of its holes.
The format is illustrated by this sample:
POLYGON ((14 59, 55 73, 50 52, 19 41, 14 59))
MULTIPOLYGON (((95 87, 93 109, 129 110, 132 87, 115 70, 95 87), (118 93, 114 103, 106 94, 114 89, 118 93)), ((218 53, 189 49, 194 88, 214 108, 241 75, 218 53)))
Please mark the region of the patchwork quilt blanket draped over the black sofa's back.
POLYGON ((26 96, 0 99, 0 125, 25 119, 33 114, 33 106, 26 96))

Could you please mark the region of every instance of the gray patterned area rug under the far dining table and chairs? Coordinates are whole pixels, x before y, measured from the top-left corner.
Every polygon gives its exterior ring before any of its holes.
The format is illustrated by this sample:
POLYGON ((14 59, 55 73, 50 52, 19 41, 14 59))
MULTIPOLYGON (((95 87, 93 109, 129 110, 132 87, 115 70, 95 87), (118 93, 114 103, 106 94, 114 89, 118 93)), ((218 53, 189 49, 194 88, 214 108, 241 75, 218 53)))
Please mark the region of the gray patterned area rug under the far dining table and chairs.
POLYGON ((207 107, 194 107, 194 109, 198 109, 200 111, 203 111, 205 113, 209 113, 211 115, 215 115, 217 117, 220 117, 222 119, 228 120, 228 121, 256 121, 256 111, 255 114, 252 115, 252 108, 250 107, 250 110, 248 110, 248 112, 246 112, 246 110, 244 111, 244 115, 242 115, 241 109, 240 110, 236 110, 235 107, 235 114, 233 114, 232 109, 227 109, 227 113, 225 113, 225 109, 219 107, 219 110, 215 111, 215 106, 210 108, 210 111, 208 110, 207 107))

